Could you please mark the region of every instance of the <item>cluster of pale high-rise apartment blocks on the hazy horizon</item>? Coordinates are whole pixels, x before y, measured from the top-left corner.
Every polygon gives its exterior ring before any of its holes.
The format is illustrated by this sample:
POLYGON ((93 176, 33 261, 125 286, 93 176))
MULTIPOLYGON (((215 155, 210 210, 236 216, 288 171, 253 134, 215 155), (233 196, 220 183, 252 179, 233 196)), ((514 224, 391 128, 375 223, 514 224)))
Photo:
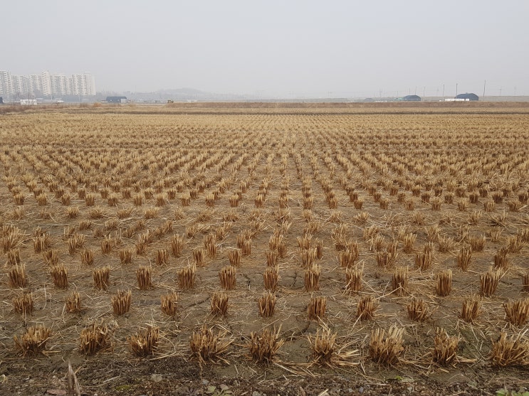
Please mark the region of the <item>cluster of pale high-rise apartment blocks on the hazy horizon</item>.
POLYGON ((13 75, 0 70, 0 95, 7 100, 93 96, 95 81, 90 73, 64 75, 45 71, 41 74, 13 75))

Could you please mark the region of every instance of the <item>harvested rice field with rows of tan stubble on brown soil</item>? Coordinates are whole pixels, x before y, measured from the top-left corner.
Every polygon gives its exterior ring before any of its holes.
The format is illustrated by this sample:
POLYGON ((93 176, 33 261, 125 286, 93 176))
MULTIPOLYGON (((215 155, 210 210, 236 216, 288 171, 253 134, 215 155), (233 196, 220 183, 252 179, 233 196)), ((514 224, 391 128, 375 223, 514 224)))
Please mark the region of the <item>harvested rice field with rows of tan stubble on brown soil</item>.
POLYGON ((529 109, 463 105, 0 115, 0 389, 529 387, 529 109))

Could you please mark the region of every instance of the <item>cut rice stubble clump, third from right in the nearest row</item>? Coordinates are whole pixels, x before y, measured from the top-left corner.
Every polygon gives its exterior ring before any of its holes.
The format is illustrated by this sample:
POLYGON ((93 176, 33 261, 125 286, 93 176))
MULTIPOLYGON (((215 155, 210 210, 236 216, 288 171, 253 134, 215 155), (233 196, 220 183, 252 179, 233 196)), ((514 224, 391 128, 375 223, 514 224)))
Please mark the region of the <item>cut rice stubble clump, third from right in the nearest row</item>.
POLYGON ((392 326, 387 332, 377 328, 371 332, 369 355, 378 364, 394 365, 399 362, 399 356, 404 350, 402 336, 404 328, 392 326))

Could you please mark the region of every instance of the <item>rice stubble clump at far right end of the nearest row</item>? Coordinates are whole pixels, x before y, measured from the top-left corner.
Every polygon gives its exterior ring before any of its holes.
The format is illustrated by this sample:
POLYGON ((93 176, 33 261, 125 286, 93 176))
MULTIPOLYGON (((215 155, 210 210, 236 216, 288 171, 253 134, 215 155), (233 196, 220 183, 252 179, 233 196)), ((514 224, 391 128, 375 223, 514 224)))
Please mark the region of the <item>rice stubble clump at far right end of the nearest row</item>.
POLYGON ((525 338, 525 333, 527 330, 507 339, 507 333, 502 331, 498 341, 492 342, 492 365, 529 365, 529 341, 525 338))

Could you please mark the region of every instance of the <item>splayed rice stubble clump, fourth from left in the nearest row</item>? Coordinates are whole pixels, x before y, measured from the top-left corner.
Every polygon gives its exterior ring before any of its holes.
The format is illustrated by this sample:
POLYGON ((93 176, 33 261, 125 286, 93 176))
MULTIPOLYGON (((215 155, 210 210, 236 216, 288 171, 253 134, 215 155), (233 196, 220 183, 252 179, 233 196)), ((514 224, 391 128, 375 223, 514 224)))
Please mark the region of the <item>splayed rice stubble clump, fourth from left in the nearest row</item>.
POLYGON ((202 326, 199 331, 193 331, 189 344, 192 354, 199 360, 200 365, 209 361, 228 363, 221 355, 226 353, 234 340, 227 338, 227 335, 228 331, 225 328, 214 333, 213 328, 207 328, 206 325, 202 326))

